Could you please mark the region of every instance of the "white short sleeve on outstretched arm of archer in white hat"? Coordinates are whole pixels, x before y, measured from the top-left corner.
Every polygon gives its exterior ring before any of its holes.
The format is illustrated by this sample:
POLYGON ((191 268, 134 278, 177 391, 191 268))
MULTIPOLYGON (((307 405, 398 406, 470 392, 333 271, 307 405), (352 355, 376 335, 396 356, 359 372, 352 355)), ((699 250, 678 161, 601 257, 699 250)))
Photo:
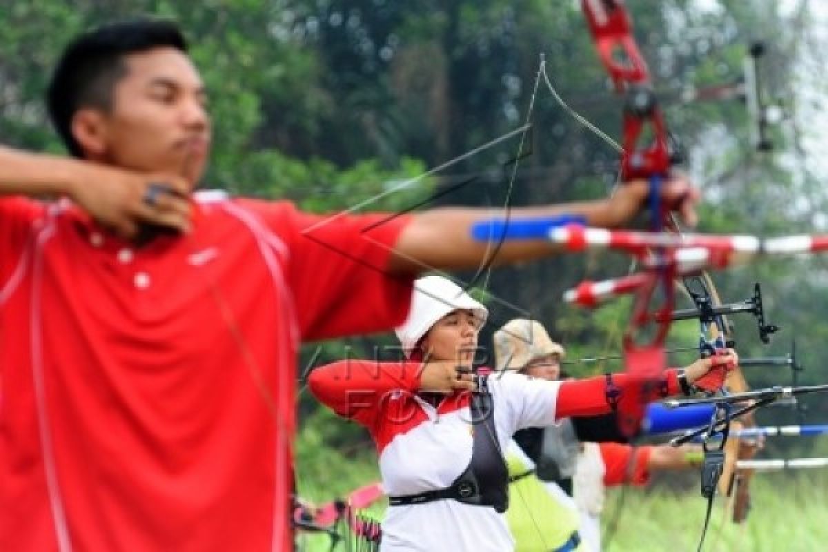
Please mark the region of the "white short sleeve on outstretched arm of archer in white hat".
POLYGON ((513 433, 527 427, 555 424, 560 388, 561 382, 549 382, 514 372, 498 372, 489 376, 489 391, 496 397, 497 408, 505 410, 503 415, 513 433))

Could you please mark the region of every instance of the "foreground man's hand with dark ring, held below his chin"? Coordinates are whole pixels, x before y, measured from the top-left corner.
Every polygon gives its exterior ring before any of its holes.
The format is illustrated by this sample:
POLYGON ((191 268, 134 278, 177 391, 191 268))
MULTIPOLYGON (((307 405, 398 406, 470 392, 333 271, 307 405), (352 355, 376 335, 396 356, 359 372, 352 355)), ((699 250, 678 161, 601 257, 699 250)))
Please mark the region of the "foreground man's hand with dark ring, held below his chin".
POLYGON ((147 224, 190 232, 190 184, 181 176, 88 163, 67 191, 81 209, 122 238, 135 238, 147 224))

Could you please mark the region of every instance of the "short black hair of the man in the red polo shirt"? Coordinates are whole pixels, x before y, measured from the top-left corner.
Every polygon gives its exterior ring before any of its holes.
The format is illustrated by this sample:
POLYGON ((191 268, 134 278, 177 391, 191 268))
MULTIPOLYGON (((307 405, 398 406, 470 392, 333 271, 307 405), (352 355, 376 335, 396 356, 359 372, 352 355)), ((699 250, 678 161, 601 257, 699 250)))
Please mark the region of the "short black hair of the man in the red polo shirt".
POLYGON ((72 136, 75 113, 88 107, 111 109, 115 84, 127 71, 123 58, 164 46, 187 51, 187 42, 176 23, 152 19, 99 26, 66 46, 46 92, 46 108, 73 156, 83 156, 72 136))

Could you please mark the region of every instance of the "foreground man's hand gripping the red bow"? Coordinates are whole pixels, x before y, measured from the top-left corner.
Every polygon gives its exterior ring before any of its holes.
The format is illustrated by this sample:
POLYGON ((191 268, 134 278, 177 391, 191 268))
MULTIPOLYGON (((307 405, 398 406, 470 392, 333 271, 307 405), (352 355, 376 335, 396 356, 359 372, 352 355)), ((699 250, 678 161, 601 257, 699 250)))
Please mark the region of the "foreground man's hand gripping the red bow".
MULTIPOLYGON (((662 204, 678 213, 679 218, 688 226, 696 226, 696 204, 699 203, 699 190, 691 186, 682 175, 671 175, 662 182, 662 204)), ((647 209, 650 183, 647 180, 633 180, 619 185, 611 198, 607 200, 606 223, 609 227, 619 227, 633 218, 638 212, 647 209)))

